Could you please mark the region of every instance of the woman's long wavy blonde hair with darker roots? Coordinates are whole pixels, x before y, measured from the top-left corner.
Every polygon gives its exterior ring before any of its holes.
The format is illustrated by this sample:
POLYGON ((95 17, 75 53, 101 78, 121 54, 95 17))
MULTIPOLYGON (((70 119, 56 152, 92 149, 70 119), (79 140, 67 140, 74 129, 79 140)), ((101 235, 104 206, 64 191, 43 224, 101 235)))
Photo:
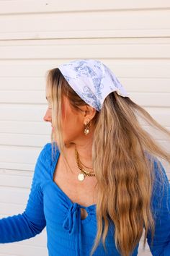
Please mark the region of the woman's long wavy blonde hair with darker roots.
MULTIPOLYGON (((61 135, 62 95, 68 97, 71 106, 77 111, 80 111, 79 106, 87 104, 68 85, 58 68, 48 72, 47 86, 52 98, 53 127, 57 128, 52 142, 57 142, 62 153, 64 152, 61 135)), ((107 95, 101 111, 96 111, 92 119, 95 126, 92 161, 97 178, 98 195, 97 236, 91 255, 97 249, 101 238, 106 250, 105 239, 109 221, 115 225, 113 242, 115 241, 116 248, 122 256, 130 256, 133 252, 143 234, 143 227, 145 228, 143 247, 146 246, 148 230, 151 230, 153 241, 155 232, 151 209, 155 179, 153 162, 158 156, 170 163, 170 153, 141 127, 139 116, 151 127, 170 137, 169 130, 158 124, 144 108, 130 98, 123 98, 115 92, 107 95)), ((159 161, 157 162, 161 174, 161 165, 159 161)))

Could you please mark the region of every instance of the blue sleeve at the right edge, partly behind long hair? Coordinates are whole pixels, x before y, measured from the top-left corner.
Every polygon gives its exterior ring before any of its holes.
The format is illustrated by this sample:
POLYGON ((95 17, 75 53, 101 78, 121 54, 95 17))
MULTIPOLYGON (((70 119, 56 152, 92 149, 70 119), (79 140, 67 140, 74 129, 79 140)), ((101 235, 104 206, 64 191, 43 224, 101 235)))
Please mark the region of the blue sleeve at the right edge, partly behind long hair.
POLYGON ((147 242, 153 256, 170 255, 170 184, 166 171, 161 162, 154 162, 156 182, 153 187, 153 218, 155 221, 155 234, 151 244, 151 232, 148 232, 147 242), (158 171, 158 163, 163 172, 163 182, 158 171))

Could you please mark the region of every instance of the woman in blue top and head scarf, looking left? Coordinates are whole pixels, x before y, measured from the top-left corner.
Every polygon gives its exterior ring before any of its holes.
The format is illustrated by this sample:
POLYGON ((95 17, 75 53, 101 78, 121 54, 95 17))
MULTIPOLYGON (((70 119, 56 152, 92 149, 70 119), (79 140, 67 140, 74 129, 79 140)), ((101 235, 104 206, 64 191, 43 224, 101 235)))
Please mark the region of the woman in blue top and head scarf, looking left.
POLYGON ((2 218, 0 242, 47 228, 56 255, 137 255, 145 229, 153 255, 170 255, 170 198, 157 157, 170 154, 138 116, 170 136, 130 100, 101 61, 70 61, 48 72, 52 142, 42 149, 24 213, 2 218))

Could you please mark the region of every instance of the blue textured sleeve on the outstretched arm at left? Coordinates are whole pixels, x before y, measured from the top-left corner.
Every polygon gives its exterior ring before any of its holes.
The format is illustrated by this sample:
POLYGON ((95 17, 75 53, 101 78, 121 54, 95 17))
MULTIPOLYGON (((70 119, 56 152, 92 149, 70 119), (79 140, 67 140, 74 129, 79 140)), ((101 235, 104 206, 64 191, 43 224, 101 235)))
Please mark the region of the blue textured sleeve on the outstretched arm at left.
POLYGON ((23 213, 1 218, 0 243, 17 242, 40 234, 46 226, 43 211, 43 195, 41 184, 45 176, 42 174, 45 165, 45 152, 48 144, 40 152, 35 165, 30 195, 23 213))

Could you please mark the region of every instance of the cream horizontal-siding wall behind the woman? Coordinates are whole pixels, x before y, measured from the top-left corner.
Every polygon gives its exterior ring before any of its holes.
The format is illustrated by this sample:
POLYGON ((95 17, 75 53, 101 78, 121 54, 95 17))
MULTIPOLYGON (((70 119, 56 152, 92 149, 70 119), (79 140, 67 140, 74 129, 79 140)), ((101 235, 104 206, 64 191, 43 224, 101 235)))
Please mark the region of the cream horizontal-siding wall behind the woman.
MULTIPOLYGON (((0 218, 24 210, 37 155, 50 141, 45 72, 78 58, 102 60, 170 129, 170 1, 0 1, 0 218)), ((0 256, 9 255, 48 255, 45 230, 1 244, 0 256)))

